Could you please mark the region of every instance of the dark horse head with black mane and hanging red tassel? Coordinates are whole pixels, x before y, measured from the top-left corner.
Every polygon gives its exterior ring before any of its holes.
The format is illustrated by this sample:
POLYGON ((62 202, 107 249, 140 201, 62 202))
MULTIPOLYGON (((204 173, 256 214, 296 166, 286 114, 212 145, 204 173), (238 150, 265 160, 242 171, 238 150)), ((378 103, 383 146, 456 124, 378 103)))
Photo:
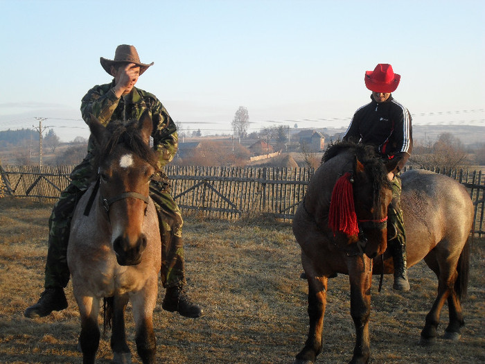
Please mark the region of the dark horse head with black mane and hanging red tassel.
POLYGON ((344 150, 351 150, 353 168, 333 187, 328 226, 337 245, 347 250, 356 246, 355 252, 373 259, 387 248, 387 206, 392 197, 387 171, 373 149, 362 144, 335 144, 325 161, 344 150))

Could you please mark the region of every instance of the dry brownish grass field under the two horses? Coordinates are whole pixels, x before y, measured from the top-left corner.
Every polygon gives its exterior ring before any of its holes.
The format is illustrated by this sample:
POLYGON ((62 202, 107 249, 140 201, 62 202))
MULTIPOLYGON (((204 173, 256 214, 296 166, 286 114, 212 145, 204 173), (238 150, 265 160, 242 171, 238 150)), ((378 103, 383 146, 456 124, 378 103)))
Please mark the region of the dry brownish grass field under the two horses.
MULTIPOLYGON (((71 285, 68 309, 46 318, 24 318, 43 288, 47 220, 51 205, 0 199, 0 362, 82 363, 76 350, 79 315, 71 285)), ((167 364, 292 363, 306 340, 306 281, 299 279, 299 248, 287 223, 247 218, 236 223, 186 217, 188 287, 206 311, 196 320, 155 311, 157 360, 167 364)), ((485 241, 475 240, 466 327, 458 343, 439 338, 419 347, 419 333, 436 291, 436 279, 423 263, 409 270, 412 291, 392 291, 385 277, 377 293, 374 277, 371 313, 371 363, 485 363, 485 241)), ((355 332, 349 313, 349 283, 344 275, 328 285, 324 351, 317 363, 348 363, 355 332)), ((164 290, 159 291, 159 302, 164 290)), ((133 322, 127 310, 133 361, 133 322)), ((443 310, 443 333, 448 311, 443 310)), ((98 363, 109 363, 109 336, 98 363)))

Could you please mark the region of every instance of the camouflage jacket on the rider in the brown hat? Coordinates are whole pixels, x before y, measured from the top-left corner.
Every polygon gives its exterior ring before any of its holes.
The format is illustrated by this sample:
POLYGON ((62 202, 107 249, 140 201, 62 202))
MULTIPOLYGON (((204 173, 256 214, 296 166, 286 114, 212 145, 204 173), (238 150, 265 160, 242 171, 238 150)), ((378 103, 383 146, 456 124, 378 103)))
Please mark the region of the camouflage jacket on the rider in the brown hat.
MULTIPOLYGON (((116 98, 113 92, 114 80, 106 85, 97 85, 87 92, 81 101, 82 119, 87 123, 89 114, 107 125, 112 120, 139 120, 145 110, 150 110, 153 120, 153 148, 160 154, 159 167, 172 161, 177 153, 177 127, 159 99, 149 92, 133 87, 130 94, 116 98)), ((88 152, 94 149, 89 138, 88 152)))

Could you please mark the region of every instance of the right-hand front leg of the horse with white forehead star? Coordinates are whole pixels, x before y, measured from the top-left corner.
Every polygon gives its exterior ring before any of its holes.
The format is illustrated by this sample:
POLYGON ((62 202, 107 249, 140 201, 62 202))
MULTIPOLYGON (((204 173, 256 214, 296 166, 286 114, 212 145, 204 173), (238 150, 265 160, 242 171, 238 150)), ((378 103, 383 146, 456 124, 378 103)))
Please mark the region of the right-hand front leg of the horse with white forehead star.
POLYGON ((157 301, 157 276, 132 297, 135 342, 143 364, 156 363, 157 338, 153 331, 153 310, 157 301))

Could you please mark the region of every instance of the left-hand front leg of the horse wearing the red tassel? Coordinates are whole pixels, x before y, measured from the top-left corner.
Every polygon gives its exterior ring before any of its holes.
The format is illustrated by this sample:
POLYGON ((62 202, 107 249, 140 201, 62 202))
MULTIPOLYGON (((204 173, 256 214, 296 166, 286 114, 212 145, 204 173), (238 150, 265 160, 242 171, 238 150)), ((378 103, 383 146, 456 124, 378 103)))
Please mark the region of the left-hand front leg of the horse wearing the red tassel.
POLYGON ((321 336, 324 328, 328 277, 317 277, 306 264, 302 253, 303 268, 308 280, 308 317, 310 329, 305 347, 297 354, 294 364, 312 364, 321 352, 321 336))

